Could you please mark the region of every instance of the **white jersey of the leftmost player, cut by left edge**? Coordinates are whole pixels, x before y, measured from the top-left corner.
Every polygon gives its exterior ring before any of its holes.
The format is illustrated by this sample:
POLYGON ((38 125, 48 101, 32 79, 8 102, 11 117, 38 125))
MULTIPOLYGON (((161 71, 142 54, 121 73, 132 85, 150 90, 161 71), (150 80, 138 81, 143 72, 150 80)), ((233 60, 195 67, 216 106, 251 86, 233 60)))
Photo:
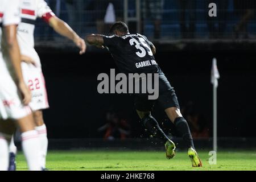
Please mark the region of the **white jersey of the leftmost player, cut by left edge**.
POLYGON ((0 73, 8 72, 10 65, 2 27, 19 24, 19 22, 19 0, 0 0, 0 73))

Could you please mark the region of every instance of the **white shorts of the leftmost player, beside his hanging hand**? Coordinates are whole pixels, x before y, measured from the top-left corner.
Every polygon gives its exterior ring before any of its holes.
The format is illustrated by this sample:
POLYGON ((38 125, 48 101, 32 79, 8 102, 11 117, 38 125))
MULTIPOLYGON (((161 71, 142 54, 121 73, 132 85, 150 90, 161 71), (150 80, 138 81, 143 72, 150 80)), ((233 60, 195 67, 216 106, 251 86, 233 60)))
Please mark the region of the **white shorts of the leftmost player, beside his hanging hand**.
POLYGON ((31 114, 29 106, 24 106, 20 93, 7 72, 0 73, 0 119, 20 119, 31 114))

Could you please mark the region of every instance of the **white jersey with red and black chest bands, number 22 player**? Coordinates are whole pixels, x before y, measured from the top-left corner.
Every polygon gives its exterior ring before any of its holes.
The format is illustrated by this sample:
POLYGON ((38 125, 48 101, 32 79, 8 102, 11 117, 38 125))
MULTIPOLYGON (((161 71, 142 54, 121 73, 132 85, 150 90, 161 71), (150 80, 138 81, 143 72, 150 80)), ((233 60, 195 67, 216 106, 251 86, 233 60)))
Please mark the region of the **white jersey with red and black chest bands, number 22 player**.
POLYGON ((44 0, 20 0, 21 23, 18 26, 18 42, 22 55, 31 57, 38 67, 41 66, 38 53, 34 48, 34 30, 37 18, 47 23, 54 16, 44 0))

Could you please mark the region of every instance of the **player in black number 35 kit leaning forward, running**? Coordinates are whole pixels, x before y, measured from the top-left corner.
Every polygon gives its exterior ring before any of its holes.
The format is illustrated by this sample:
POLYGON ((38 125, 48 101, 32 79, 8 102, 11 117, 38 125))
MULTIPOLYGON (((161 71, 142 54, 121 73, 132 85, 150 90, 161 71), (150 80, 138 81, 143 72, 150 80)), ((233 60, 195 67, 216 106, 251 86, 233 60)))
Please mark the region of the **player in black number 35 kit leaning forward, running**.
MULTIPOLYGON (((176 130, 183 138, 188 148, 188 156, 193 167, 201 167, 202 163, 193 145, 193 139, 187 121, 180 113, 179 102, 164 73, 155 62, 155 46, 140 34, 130 34, 129 28, 123 22, 117 22, 110 28, 110 36, 88 35, 86 41, 100 48, 107 48, 112 54, 121 73, 158 73, 159 74, 159 97, 157 100, 148 100, 143 94, 135 95, 135 109, 144 127, 153 135, 166 142, 166 157, 171 159, 175 155, 175 144, 172 142, 151 115, 152 106, 155 102, 163 107, 168 118, 174 123, 176 130), (155 64, 143 64, 151 60, 155 64)), ((148 62, 147 62, 148 63, 148 62)))

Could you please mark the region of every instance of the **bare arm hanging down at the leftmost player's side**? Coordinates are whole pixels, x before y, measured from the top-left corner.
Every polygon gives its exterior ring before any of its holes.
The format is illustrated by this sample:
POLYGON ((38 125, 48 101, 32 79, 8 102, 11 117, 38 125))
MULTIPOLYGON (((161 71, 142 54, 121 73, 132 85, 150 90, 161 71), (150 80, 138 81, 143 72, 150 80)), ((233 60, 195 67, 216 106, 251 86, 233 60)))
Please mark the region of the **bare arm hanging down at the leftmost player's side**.
POLYGON ((16 24, 5 26, 3 31, 5 32, 6 46, 8 49, 11 65, 13 65, 15 73, 15 84, 22 94, 23 104, 28 105, 31 101, 31 94, 23 80, 22 69, 20 66, 20 50, 18 41, 16 39, 16 24))

